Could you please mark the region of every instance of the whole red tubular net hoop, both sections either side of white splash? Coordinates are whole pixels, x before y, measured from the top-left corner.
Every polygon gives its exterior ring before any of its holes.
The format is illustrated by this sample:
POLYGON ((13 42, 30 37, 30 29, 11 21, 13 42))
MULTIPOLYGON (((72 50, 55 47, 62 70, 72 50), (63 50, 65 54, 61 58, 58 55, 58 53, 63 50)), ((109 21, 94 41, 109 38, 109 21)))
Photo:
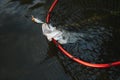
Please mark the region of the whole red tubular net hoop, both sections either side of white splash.
MULTIPOLYGON (((58 0, 54 0, 54 2, 52 3, 51 7, 49 8, 48 14, 46 16, 46 23, 49 24, 50 22, 50 17, 51 17, 51 12, 54 10, 55 6, 57 5, 58 0)), ((93 68, 109 68, 112 66, 120 66, 120 61, 116 61, 116 62, 112 62, 112 63, 105 63, 105 64, 93 64, 93 63, 89 63, 86 61, 83 61, 79 58, 74 57, 73 55, 71 55, 69 52, 67 52, 54 38, 52 39, 53 43, 55 45, 57 45, 58 49, 67 57, 69 57, 70 59, 72 59, 73 61, 82 64, 84 66, 87 67, 93 67, 93 68)))

